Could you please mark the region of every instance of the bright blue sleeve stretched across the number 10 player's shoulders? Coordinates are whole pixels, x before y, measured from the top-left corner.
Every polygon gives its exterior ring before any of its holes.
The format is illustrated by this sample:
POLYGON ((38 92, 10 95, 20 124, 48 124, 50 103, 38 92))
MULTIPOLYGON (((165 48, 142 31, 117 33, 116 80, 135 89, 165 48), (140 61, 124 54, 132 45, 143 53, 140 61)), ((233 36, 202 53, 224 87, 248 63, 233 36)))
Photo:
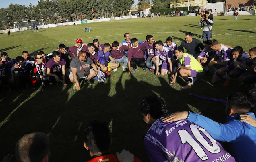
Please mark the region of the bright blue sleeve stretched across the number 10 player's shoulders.
POLYGON ((219 141, 233 142, 244 134, 242 122, 231 120, 225 124, 213 121, 203 115, 189 112, 187 120, 200 125, 207 130, 210 135, 219 141))

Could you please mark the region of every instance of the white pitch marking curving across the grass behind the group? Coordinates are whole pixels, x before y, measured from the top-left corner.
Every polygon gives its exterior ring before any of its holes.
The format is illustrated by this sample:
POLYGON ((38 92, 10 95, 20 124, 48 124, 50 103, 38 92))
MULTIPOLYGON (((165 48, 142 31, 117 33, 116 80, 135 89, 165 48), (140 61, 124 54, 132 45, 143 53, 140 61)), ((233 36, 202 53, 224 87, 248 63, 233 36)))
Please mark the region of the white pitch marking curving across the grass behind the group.
MULTIPOLYGON (((253 28, 256 29, 256 28, 253 28)), ((253 30, 253 29, 248 29, 248 30, 253 30)), ((235 31, 235 32, 240 32, 240 31, 235 31)), ((235 32, 228 32, 228 33, 224 33, 224 34, 218 34, 218 35, 228 35, 230 33, 235 33, 235 32)), ((175 34, 184 34, 182 32, 154 32, 154 33, 131 33, 131 34, 161 34, 161 33, 175 33, 175 34)), ((201 34, 201 33, 195 33, 195 34, 201 34)), ((105 35, 105 36, 93 36, 93 37, 85 37, 85 38, 81 38, 81 39, 86 39, 86 38, 96 38, 96 37, 106 37, 106 36, 118 36, 118 35, 123 35, 123 34, 112 34, 112 35, 105 35)), ((231 35, 231 34, 230 34, 231 35)), ((217 36, 217 35, 213 35, 213 36, 217 36)), ((240 36, 240 35, 238 35, 240 36)), ((249 36, 249 37, 254 37, 254 36, 249 36)), ((63 40, 63 41, 72 41, 72 40, 76 40, 76 39, 71 39, 71 40, 63 40)), ((51 42, 51 43, 44 43, 44 44, 39 44, 39 45, 33 45, 33 46, 29 46, 29 47, 22 47, 22 48, 18 48, 18 49, 24 49, 24 48, 31 48, 31 47, 36 47, 36 46, 42 46, 42 45, 46 45, 46 44, 52 44, 52 43, 59 43, 59 42, 63 42, 63 41, 56 41, 56 42, 51 42)), ((180 41, 176 41, 176 42, 180 42, 180 41)), ((18 50, 18 49, 11 49, 8 51, 13 51, 13 50, 18 50)))

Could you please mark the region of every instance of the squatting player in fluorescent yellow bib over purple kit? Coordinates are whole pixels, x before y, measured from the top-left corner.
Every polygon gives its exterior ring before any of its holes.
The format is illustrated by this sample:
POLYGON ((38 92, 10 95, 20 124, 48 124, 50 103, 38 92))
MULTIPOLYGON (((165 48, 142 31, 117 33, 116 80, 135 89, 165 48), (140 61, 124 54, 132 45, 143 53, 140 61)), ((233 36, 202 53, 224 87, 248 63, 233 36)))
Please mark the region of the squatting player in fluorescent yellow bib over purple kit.
POLYGON ((197 80, 197 77, 201 75, 201 72, 203 72, 203 68, 201 67, 199 62, 195 59, 195 57, 189 55, 188 53, 184 53, 183 47, 176 47, 174 50, 175 50, 175 55, 179 59, 179 67, 175 72, 171 85, 175 83, 176 77, 179 73, 187 83, 187 85, 181 88, 182 89, 191 88, 191 84, 193 84, 197 80))

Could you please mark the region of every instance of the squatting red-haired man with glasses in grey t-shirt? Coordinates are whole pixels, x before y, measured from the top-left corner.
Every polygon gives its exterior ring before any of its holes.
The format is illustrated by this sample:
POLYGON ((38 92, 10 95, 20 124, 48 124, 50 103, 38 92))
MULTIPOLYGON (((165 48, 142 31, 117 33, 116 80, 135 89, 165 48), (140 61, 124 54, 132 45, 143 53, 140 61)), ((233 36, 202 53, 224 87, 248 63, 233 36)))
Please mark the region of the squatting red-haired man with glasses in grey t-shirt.
POLYGON ((87 56, 86 51, 79 51, 78 56, 71 61, 69 69, 69 79, 74 83, 73 89, 80 90, 78 79, 86 77, 85 84, 92 85, 93 83, 88 81, 98 74, 98 70, 94 69, 97 69, 97 67, 92 59, 87 56))

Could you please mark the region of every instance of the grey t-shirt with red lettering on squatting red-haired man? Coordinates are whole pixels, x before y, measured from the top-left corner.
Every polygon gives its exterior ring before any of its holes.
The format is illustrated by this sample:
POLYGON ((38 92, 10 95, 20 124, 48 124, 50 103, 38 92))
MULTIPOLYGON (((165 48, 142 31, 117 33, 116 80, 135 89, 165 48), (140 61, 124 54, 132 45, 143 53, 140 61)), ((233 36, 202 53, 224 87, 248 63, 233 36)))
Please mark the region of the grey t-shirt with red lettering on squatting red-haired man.
MULTIPOLYGON (((77 75, 80 77, 80 78, 83 78, 84 77, 84 73, 83 73, 83 70, 85 72, 89 71, 90 68, 91 68, 91 65, 92 65, 93 61, 90 57, 87 57, 87 61, 86 62, 82 62, 78 59, 78 57, 75 57, 71 63, 70 63, 70 67, 73 67, 73 68, 76 68, 77 69, 77 75), (82 66, 81 66, 81 64, 82 66)), ((71 68, 69 69, 69 72, 72 72, 71 71, 71 68)))

